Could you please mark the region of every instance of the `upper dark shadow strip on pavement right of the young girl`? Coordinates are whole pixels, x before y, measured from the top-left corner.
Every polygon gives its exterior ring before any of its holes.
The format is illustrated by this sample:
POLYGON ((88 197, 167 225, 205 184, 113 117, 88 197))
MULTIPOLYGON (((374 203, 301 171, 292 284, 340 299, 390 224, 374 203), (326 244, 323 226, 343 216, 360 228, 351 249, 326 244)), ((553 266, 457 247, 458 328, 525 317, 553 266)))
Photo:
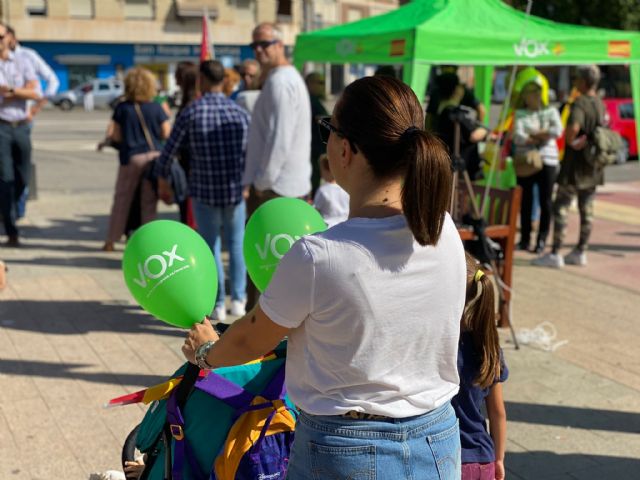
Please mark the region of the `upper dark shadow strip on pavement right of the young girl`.
POLYGON ((640 434, 640 413, 521 402, 505 405, 509 421, 640 434))

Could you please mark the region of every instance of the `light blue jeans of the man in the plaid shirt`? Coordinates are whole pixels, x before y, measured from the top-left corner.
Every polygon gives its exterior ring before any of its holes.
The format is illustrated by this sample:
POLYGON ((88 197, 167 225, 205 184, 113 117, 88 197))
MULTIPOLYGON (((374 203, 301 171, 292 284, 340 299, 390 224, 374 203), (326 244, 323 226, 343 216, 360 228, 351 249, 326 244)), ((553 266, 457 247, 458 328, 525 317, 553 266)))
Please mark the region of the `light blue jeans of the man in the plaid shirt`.
POLYGON ((247 297, 247 269, 242 255, 244 223, 247 215, 244 201, 227 207, 212 207, 193 199, 193 213, 198 232, 205 239, 216 259, 218 267, 218 297, 216 307, 224 305, 224 268, 220 246, 220 230, 229 248, 229 273, 231 276, 231 299, 245 300, 247 297))

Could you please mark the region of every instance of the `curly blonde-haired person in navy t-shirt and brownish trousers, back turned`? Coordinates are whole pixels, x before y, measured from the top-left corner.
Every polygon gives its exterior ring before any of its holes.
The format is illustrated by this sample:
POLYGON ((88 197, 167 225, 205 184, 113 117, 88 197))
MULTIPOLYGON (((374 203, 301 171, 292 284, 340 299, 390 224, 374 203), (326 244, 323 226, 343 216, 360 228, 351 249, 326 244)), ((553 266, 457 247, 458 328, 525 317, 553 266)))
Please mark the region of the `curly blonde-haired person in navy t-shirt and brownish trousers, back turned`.
POLYGON ((110 140, 120 144, 118 177, 109 230, 102 250, 113 252, 115 243, 125 233, 127 218, 138 186, 140 186, 140 222, 144 225, 156 218, 158 199, 145 170, 162 148, 161 141, 169 136, 171 126, 156 96, 156 79, 142 67, 129 70, 124 79, 125 101, 113 112, 110 140), (149 143, 152 143, 150 145, 149 143))

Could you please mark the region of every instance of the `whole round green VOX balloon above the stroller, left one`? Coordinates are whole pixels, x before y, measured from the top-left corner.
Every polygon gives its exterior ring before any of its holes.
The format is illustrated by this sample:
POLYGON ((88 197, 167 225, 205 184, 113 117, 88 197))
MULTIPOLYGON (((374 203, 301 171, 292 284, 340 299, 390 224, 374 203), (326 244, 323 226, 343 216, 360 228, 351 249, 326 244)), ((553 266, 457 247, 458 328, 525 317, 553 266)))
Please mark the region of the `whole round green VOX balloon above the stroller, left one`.
POLYGON ((154 317, 190 328, 211 314, 218 272, 211 249, 190 227, 156 220, 140 227, 122 257, 133 298, 154 317))

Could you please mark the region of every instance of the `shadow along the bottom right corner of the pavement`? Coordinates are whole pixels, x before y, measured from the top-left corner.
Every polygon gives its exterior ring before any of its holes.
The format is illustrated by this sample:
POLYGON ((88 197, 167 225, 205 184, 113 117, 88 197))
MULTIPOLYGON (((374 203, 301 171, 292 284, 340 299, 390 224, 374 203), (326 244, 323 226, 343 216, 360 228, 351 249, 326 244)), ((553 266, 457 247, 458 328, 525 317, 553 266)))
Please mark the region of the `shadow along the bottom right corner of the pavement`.
POLYGON ((507 478, 526 480, 634 479, 638 478, 640 459, 547 451, 507 452, 505 467, 507 478))

